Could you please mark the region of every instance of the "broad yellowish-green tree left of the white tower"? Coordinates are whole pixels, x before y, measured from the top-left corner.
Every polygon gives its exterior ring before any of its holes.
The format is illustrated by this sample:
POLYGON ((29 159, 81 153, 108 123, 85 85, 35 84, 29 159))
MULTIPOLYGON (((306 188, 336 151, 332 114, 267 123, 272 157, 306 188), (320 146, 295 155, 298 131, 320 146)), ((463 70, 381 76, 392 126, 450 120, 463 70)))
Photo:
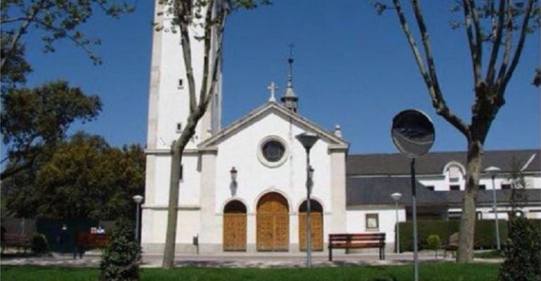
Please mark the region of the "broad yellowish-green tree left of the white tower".
POLYGON ((142 194, 145 156, 138 145, 111 148, 100 136, 76 133, 57 146, 35 176, 3 187, 7 209, 16 216, 113 219, 135 211, 142 194))

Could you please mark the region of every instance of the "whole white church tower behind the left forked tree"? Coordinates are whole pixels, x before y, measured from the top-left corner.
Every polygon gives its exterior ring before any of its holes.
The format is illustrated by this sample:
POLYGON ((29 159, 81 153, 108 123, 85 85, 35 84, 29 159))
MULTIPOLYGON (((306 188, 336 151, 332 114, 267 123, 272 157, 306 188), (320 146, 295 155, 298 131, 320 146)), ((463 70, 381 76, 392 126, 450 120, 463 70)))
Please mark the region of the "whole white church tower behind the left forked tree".
MULTIPOLYGON (((162 252, 167 226, 167 204, 171 169, 171 143, 178 139, 190 113, 190 98, 186 78, 181 34, 171 28, 172 15, 167 8, 156 4, 154 22, 163 30, 153 31, 152 63, 150 70, 150 93, 148 107, 148 140, 145 179, 145 202, 141 225, 143 251, 162 252)), ((197 40, 204 30, 199 25, 189 27, 193 72, 197 100, 201 89, 204 41, 197 40)), ((216 37, 211 47, 210 62, 216 53, 216 37)), ((190 252, 192 237, 200 228, 200 169, 197 145, 219 131, 221 126, 221 67, 214 93, 207 112, 197 124, 195 136, 183 153, 181 187, 179 191, 176 251, 190 252), (188 224, 190 227, 185 227, 188 224), (189 241, 188 241, 189 240, 189 241)))

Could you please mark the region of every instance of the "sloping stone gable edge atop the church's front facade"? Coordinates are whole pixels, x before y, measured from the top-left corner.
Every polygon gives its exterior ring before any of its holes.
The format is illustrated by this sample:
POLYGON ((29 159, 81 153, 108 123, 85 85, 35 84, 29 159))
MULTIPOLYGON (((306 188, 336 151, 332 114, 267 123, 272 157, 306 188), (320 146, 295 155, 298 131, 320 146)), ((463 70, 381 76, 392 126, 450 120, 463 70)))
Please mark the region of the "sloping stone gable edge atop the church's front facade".
POLYGON ((200 143, 199 148, 209 148, 220 143, 224 139, 228 138, 228 136, 242 129, 246 124, 249 124, 249 122, 254 121, 257 117, 260 117, 267 112, 275 112, 278 115, 289 117, 294 122, 298 122, 302 126, 305 126, 307 129, 311 130, 313 133, 318 134, 318 136, 321 138, 327 139, 330 141, 330 143, 332 143, 332 145, 337 145, 336 148, 347 149, 349 146, 348 142, 344 140, 344 138, 334 135, 334 133, 327 131, 327 129, 322 128, 309 119, 302 117, 296 112, 292 112, 292 110, 288 110, 283 105, 269 101, 268 103, 257 107, 255 110, 252 110, 252 112, 249 112, 244 117, 237 119, 235 122, 231 123, 220 131, 214 133, 213 136, 200 143))

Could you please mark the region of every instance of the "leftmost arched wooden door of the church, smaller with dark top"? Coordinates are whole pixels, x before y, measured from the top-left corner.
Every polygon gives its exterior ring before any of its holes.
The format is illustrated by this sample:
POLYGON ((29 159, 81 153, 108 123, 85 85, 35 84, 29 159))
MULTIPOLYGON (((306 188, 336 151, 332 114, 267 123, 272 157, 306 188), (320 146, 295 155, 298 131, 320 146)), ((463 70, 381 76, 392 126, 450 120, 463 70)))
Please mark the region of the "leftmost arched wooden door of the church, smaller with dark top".
POLYGON ((246 206, 238 200, 223 208, 223 251, 246 251, 246 206))

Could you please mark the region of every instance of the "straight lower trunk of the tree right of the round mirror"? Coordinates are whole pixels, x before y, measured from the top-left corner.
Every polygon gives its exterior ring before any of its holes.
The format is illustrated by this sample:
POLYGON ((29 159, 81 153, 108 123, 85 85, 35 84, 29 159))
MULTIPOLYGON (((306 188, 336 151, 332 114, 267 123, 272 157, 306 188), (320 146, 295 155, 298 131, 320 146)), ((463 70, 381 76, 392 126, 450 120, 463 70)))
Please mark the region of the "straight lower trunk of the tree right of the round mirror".
POLYGON ((458 235, 457 262, 459 263, 473 261, 476 200, 482 156, 483 143, 478 140, 468 141, 466 187, 462 198, 462 216, 460 216, 458 235))

